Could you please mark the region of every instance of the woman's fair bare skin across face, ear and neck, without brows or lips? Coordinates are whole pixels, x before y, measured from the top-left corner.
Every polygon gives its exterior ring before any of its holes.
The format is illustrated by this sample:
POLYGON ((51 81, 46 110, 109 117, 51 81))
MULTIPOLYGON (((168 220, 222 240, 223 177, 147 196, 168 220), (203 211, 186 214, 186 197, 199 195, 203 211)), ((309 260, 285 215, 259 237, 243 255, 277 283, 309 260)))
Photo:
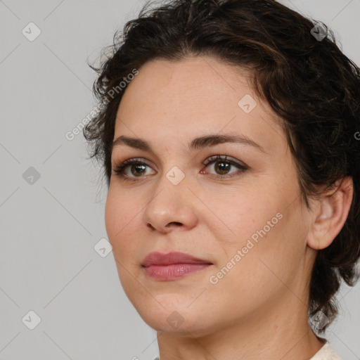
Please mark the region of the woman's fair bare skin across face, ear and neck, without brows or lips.
POLYGON ((330 245, 345 223, 351 179, 311 200, 308 210, 275 114, 257 98, 245 71, 216 58, 143 65, 117 111, 114 139, 122 135, 145 139, 153 150, 113 148, 113 170, 129 158, 148 166, 139 176, 129 165, 128 180, 113 171, 105 226, 127 297, 158 331, 161 360, 314 356, 323 342, 307 322, 311 266, 316 250, 330 245), (248 114, 238 106, 245 94, 257 101, 248 114), (195 137, 229 132, 264 152, 243 143, 188 149, 195 137), (248 169, 232 165, 224 173, 222 161, 203 165, 212 155, 228 155, 248 169), (174 166, 185 175, 177 185, 166 176, 174 166), (211 283, 210 276, 278 213, 282 218, 266 236, 211 283), (153 251, 186 252, 212 265, 176 281, 156 281, 141 267, 153 251), (180 326, 167 321, 171 314, 180 326))

